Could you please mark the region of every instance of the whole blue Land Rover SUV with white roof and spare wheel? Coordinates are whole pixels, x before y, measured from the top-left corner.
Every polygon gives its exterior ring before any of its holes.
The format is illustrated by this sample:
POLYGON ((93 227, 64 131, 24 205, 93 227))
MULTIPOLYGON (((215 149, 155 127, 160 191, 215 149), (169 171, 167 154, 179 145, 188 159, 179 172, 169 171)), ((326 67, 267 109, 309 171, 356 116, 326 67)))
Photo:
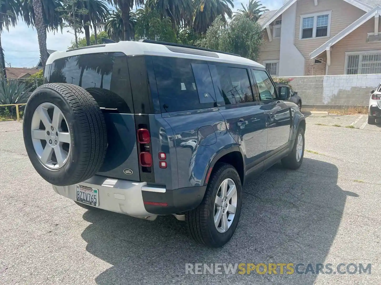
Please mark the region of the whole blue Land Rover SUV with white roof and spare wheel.
POLYGON ((288 86, 239 55, 155 41, 50 55, 30 96, 24 142, 36 171, 85 209, 175 215, 221 247, 242 185, 282 160, 298 169, 303 114, 288 86))

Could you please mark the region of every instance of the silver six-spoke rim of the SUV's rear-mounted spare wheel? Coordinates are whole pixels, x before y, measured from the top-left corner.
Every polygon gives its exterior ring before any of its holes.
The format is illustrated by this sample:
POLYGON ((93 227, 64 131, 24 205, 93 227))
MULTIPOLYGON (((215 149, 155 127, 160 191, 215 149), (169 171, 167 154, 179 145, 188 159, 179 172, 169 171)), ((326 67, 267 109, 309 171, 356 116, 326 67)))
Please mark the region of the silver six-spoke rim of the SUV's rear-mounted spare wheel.
POLYGON ((53 103, 42 103, 35 109, 31 135, 34 150, 43 165, 59 169, 70 154, 71 136, 67 120, 53 103))

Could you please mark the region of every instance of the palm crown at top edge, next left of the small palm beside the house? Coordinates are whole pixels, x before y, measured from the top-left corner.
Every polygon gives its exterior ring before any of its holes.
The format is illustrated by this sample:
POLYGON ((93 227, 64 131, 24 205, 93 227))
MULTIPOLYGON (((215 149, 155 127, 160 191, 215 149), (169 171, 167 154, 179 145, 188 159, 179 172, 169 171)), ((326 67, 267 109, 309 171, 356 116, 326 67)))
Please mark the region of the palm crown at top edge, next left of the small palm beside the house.
POLYGON ((196 10, 194 14, 193 28, 195 32, 205 34, 216 17, 221 16, 226 23, 225 14, 229 19, 233 12, 229 4, 234 8, 232 0, 195 0, 196 10))

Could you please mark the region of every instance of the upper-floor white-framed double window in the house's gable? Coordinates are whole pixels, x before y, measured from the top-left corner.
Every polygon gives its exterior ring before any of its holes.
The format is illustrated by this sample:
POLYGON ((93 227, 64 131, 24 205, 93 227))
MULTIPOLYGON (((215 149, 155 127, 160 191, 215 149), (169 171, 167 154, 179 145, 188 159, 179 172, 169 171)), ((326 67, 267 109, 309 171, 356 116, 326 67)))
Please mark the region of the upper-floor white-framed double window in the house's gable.
POLYGON ((300 16, 299 40, 330 36, 332 11, 300 16))

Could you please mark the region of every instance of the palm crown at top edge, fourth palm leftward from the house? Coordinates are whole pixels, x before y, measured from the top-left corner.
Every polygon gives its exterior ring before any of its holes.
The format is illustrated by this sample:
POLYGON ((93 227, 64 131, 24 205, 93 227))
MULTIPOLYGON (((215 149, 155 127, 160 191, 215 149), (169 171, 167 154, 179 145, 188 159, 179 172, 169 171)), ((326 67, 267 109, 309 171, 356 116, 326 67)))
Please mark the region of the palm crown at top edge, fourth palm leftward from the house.
POLYGON ((155 9, 162 17, 169 17, 174 31, 189 27, 192 23, 194 5, 192 0, 147 0, 146 6, 155 9))

